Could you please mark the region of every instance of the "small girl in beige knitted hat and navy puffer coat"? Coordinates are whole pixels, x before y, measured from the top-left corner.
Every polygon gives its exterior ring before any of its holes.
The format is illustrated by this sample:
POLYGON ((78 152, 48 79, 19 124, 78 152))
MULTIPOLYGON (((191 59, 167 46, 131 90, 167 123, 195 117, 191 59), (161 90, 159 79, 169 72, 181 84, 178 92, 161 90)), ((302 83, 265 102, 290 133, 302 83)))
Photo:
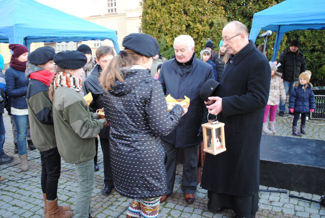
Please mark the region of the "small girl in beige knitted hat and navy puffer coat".
POLYGON ((293 86, 293 91, 289 97, 289 110, 294 114, 292 121, 292 135, 301 136, 305 134, 306 115, 315 111, 315 97, 311 90, 312 84, 309 82, 311 72, 306 70, 299 74, 299 80, 293 86), (300 132, 297 129, 297 122, 301 113, 300 132))

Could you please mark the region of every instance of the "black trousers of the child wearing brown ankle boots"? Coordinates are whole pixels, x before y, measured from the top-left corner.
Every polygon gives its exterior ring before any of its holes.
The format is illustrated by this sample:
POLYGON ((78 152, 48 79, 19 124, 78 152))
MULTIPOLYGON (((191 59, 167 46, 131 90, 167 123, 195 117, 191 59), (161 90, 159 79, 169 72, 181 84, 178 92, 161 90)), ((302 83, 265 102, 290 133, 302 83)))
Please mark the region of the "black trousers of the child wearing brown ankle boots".
POLYGON ((57 183, 61 173, 61 157, 57 148, 40 151, 41 175, 40 185, 47 200, 57 197, 57 183))

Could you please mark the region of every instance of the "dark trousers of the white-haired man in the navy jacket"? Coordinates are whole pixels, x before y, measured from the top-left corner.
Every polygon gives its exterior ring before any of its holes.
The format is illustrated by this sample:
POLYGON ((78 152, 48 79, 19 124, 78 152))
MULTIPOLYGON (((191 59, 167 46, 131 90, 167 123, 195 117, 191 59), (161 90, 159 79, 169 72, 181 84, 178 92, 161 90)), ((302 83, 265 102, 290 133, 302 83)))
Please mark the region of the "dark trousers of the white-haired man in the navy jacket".
MULTIPOLYGON (((175 182, 175 172, 177 163, 178 147, 168 142, 162 141, 167 153, 166 172, 167 172, 167 192, 172 193, 175 182)), ((197 170, 197 149, 198 144, 189 147, 183 147, 183 175, 181 181, 181 190, 184 193, 195 193, 196 191, 196 170, 197 170)))

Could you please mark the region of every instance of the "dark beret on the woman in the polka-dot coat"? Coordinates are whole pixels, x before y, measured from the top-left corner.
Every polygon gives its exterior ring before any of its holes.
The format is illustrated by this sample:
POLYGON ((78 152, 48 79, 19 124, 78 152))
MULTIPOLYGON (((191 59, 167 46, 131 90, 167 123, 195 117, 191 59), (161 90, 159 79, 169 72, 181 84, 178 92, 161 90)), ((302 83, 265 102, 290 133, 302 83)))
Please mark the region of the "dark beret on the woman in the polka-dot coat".
POLYGON ((144 33, 131 33, 123 38, 122 45, 137 54, 153 57, 159 53, 157 40, 144 33))

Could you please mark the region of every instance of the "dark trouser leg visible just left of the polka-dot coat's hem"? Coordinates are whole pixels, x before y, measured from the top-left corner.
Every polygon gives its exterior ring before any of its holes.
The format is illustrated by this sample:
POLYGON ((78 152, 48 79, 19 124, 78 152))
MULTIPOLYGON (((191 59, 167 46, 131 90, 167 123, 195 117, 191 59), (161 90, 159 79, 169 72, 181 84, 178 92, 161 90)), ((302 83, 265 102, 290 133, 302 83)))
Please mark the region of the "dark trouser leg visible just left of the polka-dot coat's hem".
POLYGON ((105 185, 112 185, 112 173, 110 168, 110 160, 109 160, 109 139, 108 138, 101 138, 100 139, 100 146, 102 150, 102 158, 104 164, 104 184, 105 185))

